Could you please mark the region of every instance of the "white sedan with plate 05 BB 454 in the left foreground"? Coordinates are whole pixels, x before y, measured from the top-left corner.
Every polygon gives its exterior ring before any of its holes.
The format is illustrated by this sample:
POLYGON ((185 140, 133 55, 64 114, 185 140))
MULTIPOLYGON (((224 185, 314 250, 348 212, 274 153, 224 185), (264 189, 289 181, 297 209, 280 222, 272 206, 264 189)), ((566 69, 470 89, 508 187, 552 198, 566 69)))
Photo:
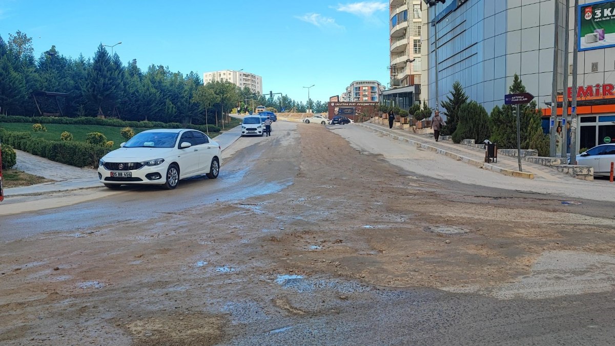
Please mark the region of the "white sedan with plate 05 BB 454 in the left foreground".
POLYGON ((176 188, 180 179, 220 172, 220 145, 191 129, 143 131, 103 156, 98 179, 108 188, 127 184, 176 188))

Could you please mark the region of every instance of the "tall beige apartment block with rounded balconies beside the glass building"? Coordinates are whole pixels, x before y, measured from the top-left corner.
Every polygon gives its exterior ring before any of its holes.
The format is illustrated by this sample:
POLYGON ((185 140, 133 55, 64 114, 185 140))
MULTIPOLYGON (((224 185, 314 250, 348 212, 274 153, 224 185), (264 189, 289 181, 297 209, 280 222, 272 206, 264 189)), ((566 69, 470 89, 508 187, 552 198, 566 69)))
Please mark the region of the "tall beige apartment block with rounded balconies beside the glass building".
POLYGON ((391 87, 421 84, 422 0, 389 1, 391 87))

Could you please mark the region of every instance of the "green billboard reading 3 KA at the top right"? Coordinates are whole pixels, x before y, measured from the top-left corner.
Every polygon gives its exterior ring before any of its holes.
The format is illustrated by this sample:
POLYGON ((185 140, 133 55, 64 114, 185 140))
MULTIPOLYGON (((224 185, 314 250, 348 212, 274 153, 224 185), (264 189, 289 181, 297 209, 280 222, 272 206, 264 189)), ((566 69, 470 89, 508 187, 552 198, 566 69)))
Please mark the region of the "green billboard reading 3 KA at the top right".
POLYGON ((615 1, 580 5, 579 50, 615 47, 615 1))

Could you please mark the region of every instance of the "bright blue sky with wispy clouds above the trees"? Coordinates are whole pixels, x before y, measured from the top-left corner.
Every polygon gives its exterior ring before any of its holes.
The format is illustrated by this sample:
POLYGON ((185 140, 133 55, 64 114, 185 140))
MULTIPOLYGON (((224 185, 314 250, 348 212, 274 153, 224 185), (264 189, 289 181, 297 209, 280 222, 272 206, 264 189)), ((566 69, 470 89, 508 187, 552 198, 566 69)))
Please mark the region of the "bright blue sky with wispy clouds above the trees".
POLYGON ((387 1, 0 0, 0 36, 22 31, 34 55, 93 57, 113 45, 124 63, 263 77, 263 94, 328 101, 355 80, 389 81, 387 1))

